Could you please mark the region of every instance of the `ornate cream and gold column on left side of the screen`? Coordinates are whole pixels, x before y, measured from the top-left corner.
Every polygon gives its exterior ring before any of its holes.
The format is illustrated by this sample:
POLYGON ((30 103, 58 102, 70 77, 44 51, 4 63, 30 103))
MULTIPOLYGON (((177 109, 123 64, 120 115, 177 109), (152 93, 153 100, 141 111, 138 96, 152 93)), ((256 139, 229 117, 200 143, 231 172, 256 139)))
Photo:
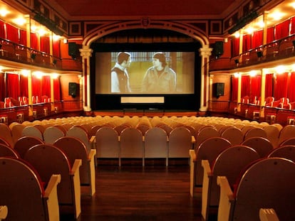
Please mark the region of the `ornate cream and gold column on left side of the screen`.
POLYGON ((93 50, 89 48, 88 45, 83 45, 83 48, 79 49, 80 55, 82 57, 82 102, 83 109, 85 112, 90 112, 90 57, 93 53, 93 50))

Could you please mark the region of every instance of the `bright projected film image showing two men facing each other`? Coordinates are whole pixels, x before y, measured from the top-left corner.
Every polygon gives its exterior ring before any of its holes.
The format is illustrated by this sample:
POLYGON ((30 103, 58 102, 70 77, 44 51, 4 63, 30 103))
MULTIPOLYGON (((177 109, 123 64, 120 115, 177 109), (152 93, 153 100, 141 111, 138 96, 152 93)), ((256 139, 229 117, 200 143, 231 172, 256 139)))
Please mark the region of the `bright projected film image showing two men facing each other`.
POLYGON ((194 52, 96 52, 95 94, 194 94, 194 52))

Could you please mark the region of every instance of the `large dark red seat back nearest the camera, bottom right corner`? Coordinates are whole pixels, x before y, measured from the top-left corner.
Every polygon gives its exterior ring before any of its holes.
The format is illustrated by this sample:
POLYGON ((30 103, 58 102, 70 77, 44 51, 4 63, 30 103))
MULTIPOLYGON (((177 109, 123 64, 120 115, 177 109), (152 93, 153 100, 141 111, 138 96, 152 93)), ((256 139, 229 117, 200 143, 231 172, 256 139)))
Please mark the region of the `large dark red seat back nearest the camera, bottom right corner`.
POLYGON ((295 220, 295 163, 265 158, 250 166, 234 191, 232 219, 259 221, 261 207, 273 208, 281 220, 295 220))

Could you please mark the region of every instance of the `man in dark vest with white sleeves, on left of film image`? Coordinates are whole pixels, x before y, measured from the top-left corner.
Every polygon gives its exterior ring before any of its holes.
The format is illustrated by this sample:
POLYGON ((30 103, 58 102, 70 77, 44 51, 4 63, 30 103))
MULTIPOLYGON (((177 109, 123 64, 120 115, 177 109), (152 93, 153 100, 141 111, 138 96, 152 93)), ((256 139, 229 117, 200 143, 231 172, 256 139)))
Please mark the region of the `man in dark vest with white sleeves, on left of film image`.
POLYGON ((130 53, 120 52, 117 55, 117 63, 111 70, 111 92, 131 92, 127 68, 130 67, 130 53))

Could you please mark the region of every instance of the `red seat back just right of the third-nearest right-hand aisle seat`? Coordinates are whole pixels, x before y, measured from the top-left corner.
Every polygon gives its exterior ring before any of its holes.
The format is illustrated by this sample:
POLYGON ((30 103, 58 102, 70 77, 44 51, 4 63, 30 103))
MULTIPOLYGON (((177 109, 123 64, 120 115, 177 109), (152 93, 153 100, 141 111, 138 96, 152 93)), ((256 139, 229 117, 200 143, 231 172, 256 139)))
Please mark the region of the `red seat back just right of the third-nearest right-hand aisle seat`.
POLYGON ((257 151, 261 158, 267 156, 274 149, 268 139, 260 136, 251 137, 245 140, 242 145, 249 146, 257 151))

